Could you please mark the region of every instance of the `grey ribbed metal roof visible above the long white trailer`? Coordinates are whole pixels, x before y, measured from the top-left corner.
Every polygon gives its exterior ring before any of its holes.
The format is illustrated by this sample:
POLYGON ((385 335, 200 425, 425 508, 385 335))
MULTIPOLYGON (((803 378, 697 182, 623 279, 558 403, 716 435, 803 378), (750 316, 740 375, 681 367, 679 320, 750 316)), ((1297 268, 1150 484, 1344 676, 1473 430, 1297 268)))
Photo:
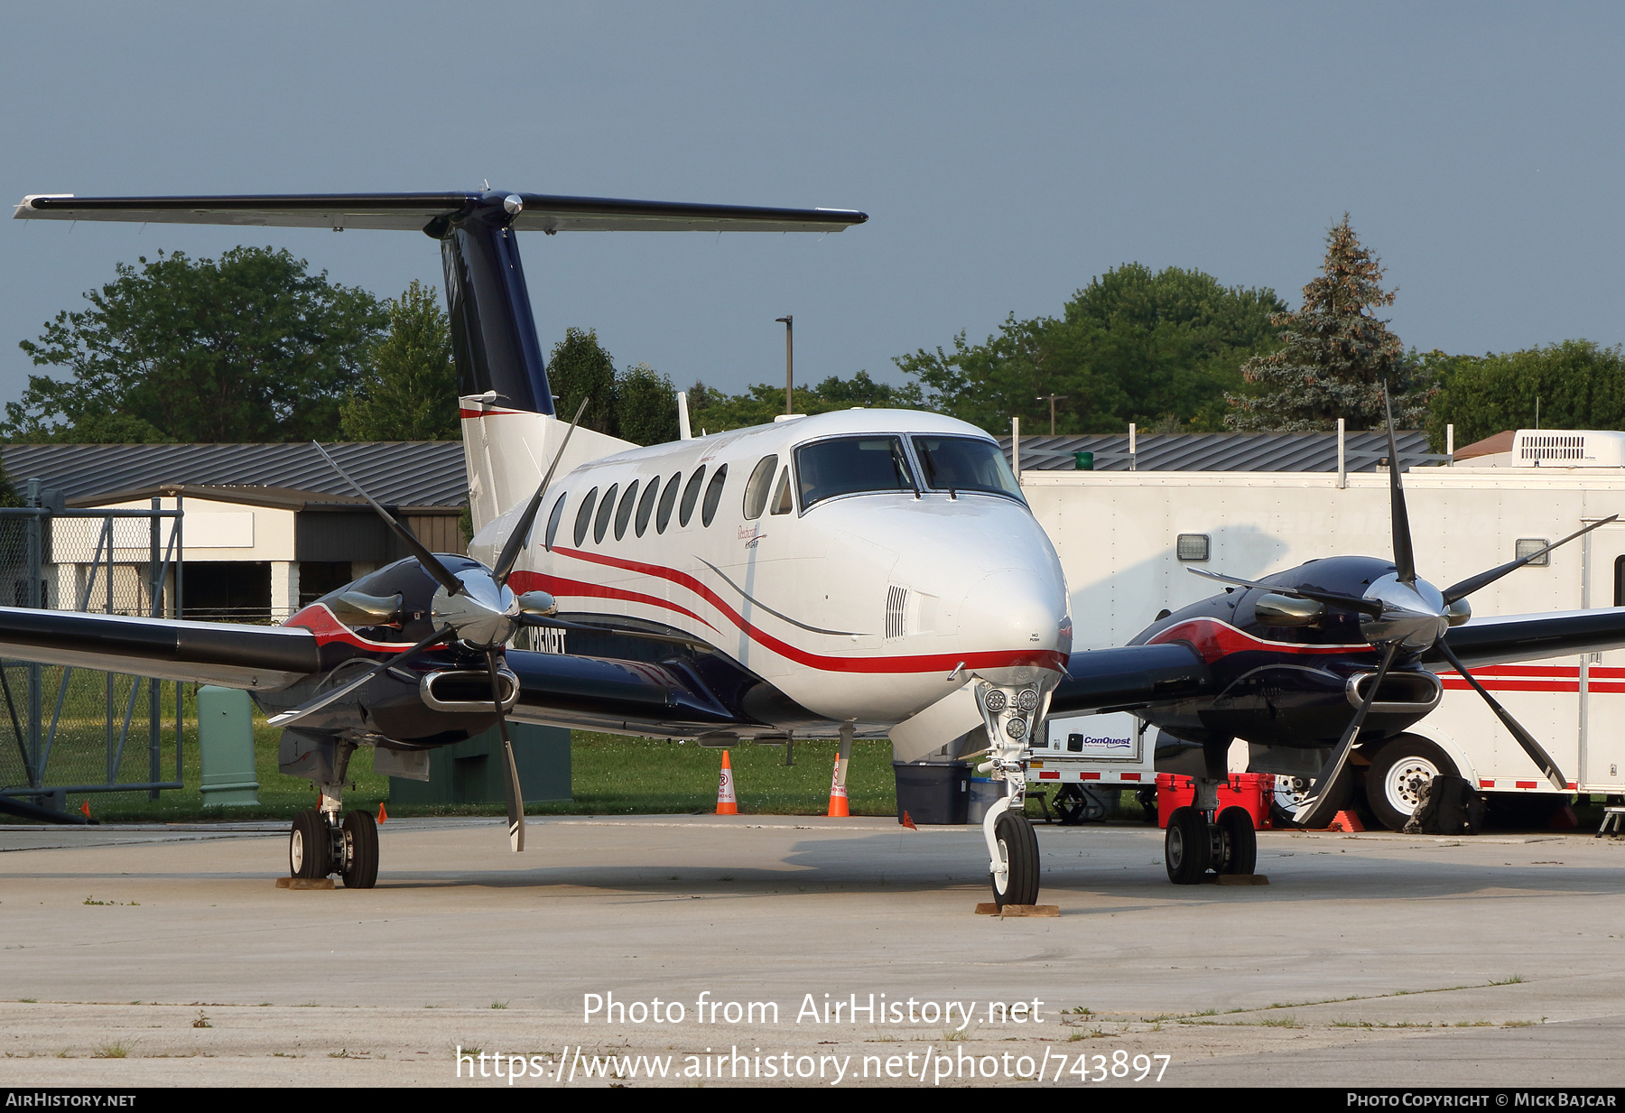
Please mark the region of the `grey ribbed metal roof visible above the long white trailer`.
MULTIPOLYGON (((1394 435, 1401 468, 1441 463, 1446 457, 1427 450, 1427 434, 1409 429, 1394 435)), ((999 437, 1009 458, 1011 439, 999 437)), ((1185 432, 1139 434, 1134 444, 1138 471, 1336 471, 1336 432, 1185 432)), ((1128 434, 1020 439, 1022 471, 1071 471, 1072 453, 1095 453, 1095 471, 1128 471, 1128 434)), ((1388 432, 1344 434, 1349 471, 1375 471, 1388 457, 1388 432)))

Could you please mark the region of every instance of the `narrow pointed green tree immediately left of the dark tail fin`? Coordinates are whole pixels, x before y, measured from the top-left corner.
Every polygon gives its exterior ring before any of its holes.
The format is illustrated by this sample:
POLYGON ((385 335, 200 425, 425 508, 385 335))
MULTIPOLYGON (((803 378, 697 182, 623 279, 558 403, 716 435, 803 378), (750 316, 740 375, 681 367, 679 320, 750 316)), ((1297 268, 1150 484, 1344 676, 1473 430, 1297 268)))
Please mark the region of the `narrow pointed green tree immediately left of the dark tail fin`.
POLYGON ((387 302, 388 333, 341 408, 348 440, 457 440, 457 366, 452 325, 434 286, 416 278, 387 302))

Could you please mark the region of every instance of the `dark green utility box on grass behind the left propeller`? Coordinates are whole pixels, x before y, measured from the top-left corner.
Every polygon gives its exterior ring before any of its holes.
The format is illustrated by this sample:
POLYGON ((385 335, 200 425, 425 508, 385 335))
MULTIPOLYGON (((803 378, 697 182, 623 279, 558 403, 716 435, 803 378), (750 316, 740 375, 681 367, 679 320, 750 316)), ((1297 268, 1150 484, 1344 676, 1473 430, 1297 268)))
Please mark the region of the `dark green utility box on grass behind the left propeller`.
MULTIPOLYGON (((570 731, 509 723, 514 765, 526 801, 570 798, 570 731)), ((392 804, 500 804, 502 736, 492 726, 466 743, 429 751, 429 780, 390 777, 392 804)))

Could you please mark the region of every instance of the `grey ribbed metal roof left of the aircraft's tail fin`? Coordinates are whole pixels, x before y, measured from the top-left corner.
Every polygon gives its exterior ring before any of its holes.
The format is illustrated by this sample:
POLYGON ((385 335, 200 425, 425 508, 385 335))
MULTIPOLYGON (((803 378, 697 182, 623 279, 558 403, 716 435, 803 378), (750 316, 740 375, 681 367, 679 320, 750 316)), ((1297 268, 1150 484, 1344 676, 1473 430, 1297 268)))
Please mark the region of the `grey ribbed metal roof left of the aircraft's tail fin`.
MULTIPOLYGON (((384 440, 325 448, 374 499, 390 507, 460 507, 468 502, 462 440, 384 440)), ((68 500, 166 484, 291 487, 354 497, 309 444, 260 445, 0 445, 18 491, 29 479, 68 500)))

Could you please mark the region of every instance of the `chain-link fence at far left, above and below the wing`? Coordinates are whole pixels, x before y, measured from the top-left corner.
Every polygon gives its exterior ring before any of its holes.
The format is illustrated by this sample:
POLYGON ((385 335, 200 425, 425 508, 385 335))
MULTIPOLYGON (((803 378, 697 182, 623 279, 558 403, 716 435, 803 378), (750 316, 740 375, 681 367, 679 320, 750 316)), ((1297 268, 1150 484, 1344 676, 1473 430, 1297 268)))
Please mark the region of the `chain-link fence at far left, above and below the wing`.
MULTIPOLYGON (((0 601, 176 617, 180 517, 150 510, 0 509, 0 601)), ((180 788, 182 686, 86 668, 0 661, 0 795, 180 788), (166 752, 167 751, 167 752, 166 752), (172 754, 172 757, 169 756, 172 754), (166 778, 166 770, 172 777, 166 778)))

